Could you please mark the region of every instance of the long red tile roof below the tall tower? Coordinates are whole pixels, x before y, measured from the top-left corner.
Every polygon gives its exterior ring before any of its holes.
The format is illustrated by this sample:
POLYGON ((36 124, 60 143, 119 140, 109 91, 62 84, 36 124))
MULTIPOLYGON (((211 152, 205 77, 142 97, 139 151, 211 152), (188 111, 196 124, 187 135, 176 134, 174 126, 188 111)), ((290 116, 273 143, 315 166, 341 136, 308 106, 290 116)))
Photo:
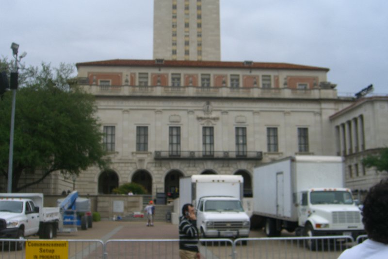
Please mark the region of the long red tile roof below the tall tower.
POLYGON ((184 61, 184 60, 136 60, 136 59, 112 59, 92 62, 82 62, 76 64, 77 68, 82 66, 112 66, 112 67, 190 67, 190 68, 229 68, 229 69, 292 69, 292 70, 322 70, 328 72, 327 68, 295 65, 289 63, 268 63, 252 62, 251 65, 244 62, 229 61, 184 61))

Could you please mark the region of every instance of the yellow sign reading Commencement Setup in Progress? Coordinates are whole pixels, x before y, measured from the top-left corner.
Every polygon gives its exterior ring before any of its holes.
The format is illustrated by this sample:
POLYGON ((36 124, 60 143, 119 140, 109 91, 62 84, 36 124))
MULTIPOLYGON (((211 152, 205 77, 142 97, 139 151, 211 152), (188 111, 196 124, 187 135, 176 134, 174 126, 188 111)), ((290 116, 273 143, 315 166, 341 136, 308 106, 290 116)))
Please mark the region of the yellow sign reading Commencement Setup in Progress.
POLYGON ((68 241, 26 241, 26 259, 67 259, 68 241))

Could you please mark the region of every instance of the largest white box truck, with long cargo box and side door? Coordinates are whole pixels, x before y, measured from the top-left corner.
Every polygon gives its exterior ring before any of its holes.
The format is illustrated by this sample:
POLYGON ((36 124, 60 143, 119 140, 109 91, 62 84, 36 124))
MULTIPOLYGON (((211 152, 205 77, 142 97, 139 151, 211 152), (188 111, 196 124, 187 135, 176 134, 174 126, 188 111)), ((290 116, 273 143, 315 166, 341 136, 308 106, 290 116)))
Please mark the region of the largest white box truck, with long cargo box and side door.
POLYGON ((340 156, 296 155, 254 169, 252 224, 267 236, 364 234, 361 211, 344 188, 340 156), (259 224, 260 225, 260 224, 259 224))

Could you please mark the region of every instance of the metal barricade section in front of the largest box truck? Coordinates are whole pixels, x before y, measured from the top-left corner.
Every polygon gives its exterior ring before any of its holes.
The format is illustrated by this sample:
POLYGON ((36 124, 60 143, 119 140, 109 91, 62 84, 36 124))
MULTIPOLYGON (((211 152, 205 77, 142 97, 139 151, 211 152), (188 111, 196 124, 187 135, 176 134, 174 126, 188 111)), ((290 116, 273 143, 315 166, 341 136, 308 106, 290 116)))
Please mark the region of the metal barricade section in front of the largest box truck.
POLYGON ((337 258, 353 245, 351 236, 239 238, 233 242, 233 259, 337 258))

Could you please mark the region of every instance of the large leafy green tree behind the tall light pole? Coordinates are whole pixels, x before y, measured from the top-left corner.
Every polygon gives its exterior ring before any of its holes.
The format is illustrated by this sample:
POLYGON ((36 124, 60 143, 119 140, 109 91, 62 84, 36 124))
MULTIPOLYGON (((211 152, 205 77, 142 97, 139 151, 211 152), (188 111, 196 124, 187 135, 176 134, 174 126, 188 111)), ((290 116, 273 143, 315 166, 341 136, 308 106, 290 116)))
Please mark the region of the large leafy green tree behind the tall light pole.
MULTIPOLYGON (((2 60, 0 69, 9 69, 2 60)), ((74 69, 20 69, 16 94, 12 191, 41 182, 50 173, 79 175, 90 166, 106 168, 94 97, 69 85, 74 69), (22 173, 41 172, 36 181, 19 186, 22 173)), ((0 170, 8 178, 12 93, 0 102, 0 170)), ((4 188, 5 189, 5 188, 4 188)))

